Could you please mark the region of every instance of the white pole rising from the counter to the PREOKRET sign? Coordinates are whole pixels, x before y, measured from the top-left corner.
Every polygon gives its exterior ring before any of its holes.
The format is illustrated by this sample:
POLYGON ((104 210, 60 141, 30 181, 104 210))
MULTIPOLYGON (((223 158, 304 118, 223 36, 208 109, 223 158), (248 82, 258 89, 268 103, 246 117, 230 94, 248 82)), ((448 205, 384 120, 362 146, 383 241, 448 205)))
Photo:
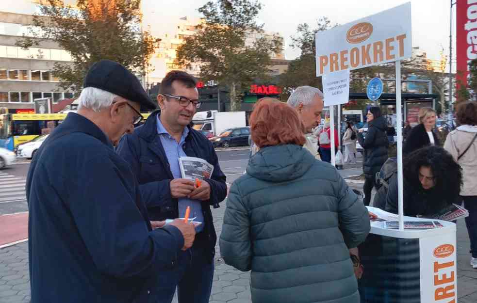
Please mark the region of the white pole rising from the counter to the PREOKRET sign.
POLYGON ((397 209, 399 230, 404 230, 403 176, 402 176, 402 111, 401 111, 401 60, 396 61, 396 128, 397 128, 397 209))

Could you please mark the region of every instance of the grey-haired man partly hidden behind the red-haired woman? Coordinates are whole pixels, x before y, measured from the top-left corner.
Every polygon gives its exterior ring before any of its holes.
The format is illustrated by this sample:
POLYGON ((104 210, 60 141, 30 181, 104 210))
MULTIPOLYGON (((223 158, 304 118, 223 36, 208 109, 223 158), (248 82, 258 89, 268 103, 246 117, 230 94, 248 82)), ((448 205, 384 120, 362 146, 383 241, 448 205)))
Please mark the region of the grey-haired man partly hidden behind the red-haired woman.
POLYGON ((312 133, 321 121, 323 112, 323 93, 312 86, 299 86, 288 98, 287 104, 294 108, 298 113, 306 131, 306 143, 303 147, 308 149, 316 158, 320 159, 316 136, 312 133))

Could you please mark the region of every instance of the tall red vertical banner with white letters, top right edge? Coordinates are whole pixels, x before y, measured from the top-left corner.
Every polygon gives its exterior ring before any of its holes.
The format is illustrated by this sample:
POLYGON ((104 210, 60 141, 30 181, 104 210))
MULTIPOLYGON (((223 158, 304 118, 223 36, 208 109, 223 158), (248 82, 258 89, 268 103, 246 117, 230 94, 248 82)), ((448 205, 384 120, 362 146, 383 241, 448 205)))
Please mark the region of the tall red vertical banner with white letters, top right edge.
POLYGON ((477 59, 477 0, 457 1, 457 79, 464 85, 469 77, 469 63, 477 59))

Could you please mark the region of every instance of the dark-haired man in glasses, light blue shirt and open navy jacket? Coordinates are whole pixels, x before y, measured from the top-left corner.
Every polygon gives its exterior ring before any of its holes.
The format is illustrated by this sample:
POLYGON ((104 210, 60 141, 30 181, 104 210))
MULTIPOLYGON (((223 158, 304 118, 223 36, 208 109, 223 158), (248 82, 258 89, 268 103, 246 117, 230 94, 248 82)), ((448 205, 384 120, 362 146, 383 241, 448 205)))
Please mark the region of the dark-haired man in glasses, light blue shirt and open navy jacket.
POLYGON ((216 235, 210 206, 218 207, 227 195, 226 177, 209 140, 189 126, 200 106, 196 80, 181 71, 169 72, 157 97, 161 113, 153 112, 133 134, 124 136, 117 153, 130 163, 137 176, 152 220, 190 216, 202 222, 194 246, 181 254, 186 260, 170 277, 161 302, 171 302, 176 285, 180 303, 206 303, 212 289, 216 235), (200 187, 181 176, 180 157, 197 157, 214 165, 200 187))

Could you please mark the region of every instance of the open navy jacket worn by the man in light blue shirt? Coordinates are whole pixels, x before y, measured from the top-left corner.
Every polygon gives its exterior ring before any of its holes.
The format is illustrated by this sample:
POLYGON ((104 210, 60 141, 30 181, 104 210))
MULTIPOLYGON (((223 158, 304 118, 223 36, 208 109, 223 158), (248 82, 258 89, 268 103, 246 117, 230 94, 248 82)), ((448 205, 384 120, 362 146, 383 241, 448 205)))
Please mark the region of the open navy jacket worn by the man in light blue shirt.
MULTIPOLYGON (((178 200, 171 197, 170 182, 174 179, 169 162, 157 138, 157 115, 159 111, 149 115, 144 125, 136 128, 134 133, 122 137, 116 152, 121 155, 132 168, 133 174, 140 184, 143 201, 148 207, 148 214, 152 221, 173 219, 179 216, 178 200)), ((217 154, 210 141, 193 128, 185 139, 184 152, 189 157, 197 157, 214 165, 214 172, 206 181, 210 184, 211 194, 209 201, 203 201, 204 232, 207 235, 210 248, 210 261, 215 254, 214 222, 210 205, 219 207, 227 196, 226 176, 220 169, 217 154)))

